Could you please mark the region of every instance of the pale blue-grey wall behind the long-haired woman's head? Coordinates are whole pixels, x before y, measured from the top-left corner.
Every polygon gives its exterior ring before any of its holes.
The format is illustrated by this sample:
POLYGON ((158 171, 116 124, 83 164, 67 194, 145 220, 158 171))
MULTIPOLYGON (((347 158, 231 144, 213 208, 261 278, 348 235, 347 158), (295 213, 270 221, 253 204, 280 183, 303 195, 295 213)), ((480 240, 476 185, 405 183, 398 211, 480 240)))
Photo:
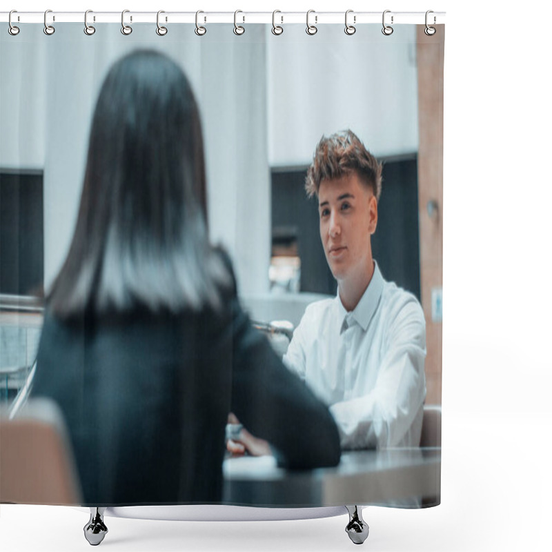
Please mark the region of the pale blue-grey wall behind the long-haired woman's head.
MULTIPOLYGON (((235 37, 232 25, 137 24, 124 36, 117 23, 88 37, 79 23, 55 34, 26 25, 1 38, 0 166, 44 170, 44 283, 55 277, 75 227, 88 132, 103 77, 113 61, 154 48, 181 64, 192 82, 204 124, 211 239, 228 248, 239 289, 268 289, 270 174, 266 124, 264 26, 235 37), (252 47, 251 43, 255 46, 252 47)), ((162 86, 162 83, 161 83, 162 86)))

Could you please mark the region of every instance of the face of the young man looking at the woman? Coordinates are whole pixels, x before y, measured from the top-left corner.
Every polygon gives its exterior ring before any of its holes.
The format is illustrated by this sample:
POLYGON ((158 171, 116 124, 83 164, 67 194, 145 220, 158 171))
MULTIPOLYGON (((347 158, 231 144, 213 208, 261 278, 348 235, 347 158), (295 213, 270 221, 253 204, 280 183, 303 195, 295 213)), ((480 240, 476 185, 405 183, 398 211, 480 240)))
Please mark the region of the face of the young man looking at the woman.
POLYGON ((372 269, 371 235, 377 201, 356 172, 323 180, 318 190, 320 238, 337 282, 354 281, 372 269))

